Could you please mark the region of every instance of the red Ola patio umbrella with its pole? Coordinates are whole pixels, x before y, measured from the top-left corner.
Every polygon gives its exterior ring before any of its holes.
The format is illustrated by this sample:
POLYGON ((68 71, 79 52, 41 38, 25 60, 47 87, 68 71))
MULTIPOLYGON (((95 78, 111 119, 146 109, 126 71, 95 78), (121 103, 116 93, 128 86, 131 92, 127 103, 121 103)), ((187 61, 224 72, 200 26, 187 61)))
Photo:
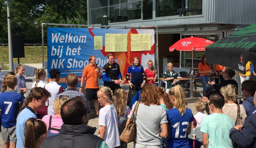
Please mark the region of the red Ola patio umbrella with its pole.
MULTIPOLYGON (((187 37, 182 38, 176 43, 174 43, 171 47, 169 47, 169 51, 179 50, 179 51, 192 51, 192 70, 193 70, 193 49, 196 51, 205 51, 205 46, 214 43, 214 41, 200 38, 200 37, 187 37)), ((190 98, 194 98, 193 93, 193 75, 190 75, 190 98)))

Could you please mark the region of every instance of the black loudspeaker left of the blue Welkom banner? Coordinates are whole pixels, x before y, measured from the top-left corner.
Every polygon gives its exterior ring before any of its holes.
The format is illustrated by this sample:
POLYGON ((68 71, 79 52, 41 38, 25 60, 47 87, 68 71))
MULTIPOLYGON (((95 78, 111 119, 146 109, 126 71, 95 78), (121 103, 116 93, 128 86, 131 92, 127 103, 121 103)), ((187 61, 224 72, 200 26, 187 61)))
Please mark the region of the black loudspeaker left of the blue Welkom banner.
POLYGON ((12 56, 13 58, 25 57, 23 35, 12 35, 12 56))

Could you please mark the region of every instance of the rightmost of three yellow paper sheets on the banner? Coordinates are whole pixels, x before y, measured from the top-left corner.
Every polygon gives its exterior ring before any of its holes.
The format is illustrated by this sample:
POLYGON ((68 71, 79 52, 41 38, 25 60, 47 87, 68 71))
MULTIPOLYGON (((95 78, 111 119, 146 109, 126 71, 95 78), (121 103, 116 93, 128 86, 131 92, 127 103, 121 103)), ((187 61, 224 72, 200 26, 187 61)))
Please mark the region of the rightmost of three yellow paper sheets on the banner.
POLYGON ((131 34, 131 51, 150 51, 150 34, 131 34))

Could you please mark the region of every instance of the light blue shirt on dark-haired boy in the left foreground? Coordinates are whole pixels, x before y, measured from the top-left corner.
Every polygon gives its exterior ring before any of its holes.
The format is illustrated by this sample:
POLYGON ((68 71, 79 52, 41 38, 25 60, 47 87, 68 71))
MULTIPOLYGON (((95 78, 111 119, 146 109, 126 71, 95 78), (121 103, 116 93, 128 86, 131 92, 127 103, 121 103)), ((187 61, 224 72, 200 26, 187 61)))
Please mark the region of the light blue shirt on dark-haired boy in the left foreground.
POLYGON ((17 123, 16 123, 16 136, 17 136, 17 144, 16 148, 24 148, 24 139, 25 139, 25 123, 29 118, 35 118, 36 114, 32 112, 30 107, 26 107, 24 110, 22 110, 17 117, 17 123))

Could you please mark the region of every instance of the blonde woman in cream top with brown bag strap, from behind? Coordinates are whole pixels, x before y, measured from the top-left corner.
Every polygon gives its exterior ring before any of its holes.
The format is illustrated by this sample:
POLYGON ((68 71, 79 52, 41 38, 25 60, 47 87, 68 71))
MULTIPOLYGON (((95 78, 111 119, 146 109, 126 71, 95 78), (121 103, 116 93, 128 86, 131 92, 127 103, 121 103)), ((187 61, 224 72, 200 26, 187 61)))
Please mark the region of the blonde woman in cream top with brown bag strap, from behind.
MULTIPOLYGON (((222 108, 222 111, 230 116, 234 122, 237 118, 237 88, 235 85, 228 84, 220 89, 220 93, 224 96, 225 105, 222 108)), ((245 109, 242 105, 240 106, 240 119, 245 119, 247 117, 245 109)))

